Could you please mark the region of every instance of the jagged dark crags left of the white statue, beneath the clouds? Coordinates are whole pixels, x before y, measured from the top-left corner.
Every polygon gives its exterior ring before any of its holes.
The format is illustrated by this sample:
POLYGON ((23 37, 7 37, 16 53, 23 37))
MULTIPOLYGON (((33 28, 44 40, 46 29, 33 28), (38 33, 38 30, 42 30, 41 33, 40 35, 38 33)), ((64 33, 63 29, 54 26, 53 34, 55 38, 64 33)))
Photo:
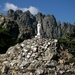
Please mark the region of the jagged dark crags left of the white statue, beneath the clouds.
POLYGON ((18 38, 31 38, 35 35, 35 17, 29 12, 10 9, 7 13, 9 18, 15 20, 19 26, 18 38))

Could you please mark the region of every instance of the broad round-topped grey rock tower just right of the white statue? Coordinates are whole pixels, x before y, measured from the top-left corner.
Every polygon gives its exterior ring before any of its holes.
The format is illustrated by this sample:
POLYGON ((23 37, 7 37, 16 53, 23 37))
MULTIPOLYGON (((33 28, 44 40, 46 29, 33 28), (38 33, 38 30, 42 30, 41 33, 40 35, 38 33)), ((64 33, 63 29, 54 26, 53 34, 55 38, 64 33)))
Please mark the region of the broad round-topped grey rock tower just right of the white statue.
POLYGON ((57 23, 53 15, 47 15, 43 19, 44 35, 47 38, 56 37, 57 23))

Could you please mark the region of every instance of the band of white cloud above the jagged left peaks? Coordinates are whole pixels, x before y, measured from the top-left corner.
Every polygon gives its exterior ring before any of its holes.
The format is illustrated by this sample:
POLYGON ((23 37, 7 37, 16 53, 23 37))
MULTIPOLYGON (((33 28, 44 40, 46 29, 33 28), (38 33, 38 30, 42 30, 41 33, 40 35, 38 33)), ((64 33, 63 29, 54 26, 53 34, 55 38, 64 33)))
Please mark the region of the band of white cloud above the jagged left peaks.
POLYGON ((12 3, 5 3, 5 6, 4 6, 4 11, 8 11, 9 9, 13 9, 14 11, 15 10, 22 10, 23 12, 29 10, 32 14, 37 14, 39 12, 39 10, 33 6, 30 6, 29 8, 20 8, 12 3))

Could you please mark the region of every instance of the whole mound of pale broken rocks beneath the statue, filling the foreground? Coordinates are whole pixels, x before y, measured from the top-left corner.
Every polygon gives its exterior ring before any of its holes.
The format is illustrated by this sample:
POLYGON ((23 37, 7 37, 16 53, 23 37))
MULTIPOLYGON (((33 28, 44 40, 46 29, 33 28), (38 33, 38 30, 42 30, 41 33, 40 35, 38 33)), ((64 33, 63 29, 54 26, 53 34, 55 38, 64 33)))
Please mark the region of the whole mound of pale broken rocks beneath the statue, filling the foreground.
POLYGON ((32 38, 0 55, 0 75, 74 75, 72 57, 57 39, 32 38))

